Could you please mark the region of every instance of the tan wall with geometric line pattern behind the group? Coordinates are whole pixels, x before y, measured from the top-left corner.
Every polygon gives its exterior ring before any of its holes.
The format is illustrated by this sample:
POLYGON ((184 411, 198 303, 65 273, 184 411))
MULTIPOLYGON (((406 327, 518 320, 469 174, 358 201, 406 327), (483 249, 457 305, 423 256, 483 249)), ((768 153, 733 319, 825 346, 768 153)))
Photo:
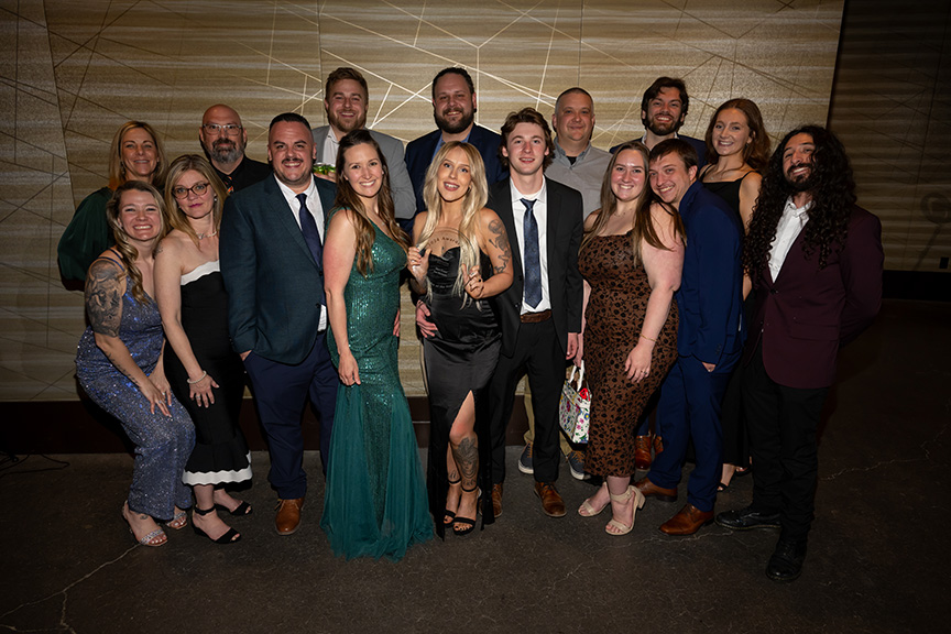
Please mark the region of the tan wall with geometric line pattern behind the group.
MULTIPOLYGON (((641 94, 663 74, 687 80, 686 133, 743 96, 776 138, 827 119, 843 1, 0 2, 0 401, 77 398, 83 300, 59 283, 56 243, 106 183, 123 121, 150 122, 174 157, 226 102, 264 160, 271 118, 325 123, 324 78, 349 65, 370 84, 368 124, 405 142, 434 128, 433 76, 462 65, 489 128, 524 106, 549 116, 580 85, 606 149, 642 133, 641 94)), ((401 368, 420 394, 412 341, 401 368)))

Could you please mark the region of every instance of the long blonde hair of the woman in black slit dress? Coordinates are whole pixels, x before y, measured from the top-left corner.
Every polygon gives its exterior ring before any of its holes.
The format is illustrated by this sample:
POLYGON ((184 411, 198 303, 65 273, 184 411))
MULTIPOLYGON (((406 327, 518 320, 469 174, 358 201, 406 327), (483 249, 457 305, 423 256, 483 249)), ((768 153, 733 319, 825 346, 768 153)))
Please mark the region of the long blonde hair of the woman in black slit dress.
MULTIPOLYGON (((456 284, 452 285, 452 294, 463 298, 462 305, 468 303, 469 295, 464 292, 466 280, 469 275, 469 270, 472 266, 480 264, 479 249, 479 211, 485 207, 489 200, 489 184, 485 181, 485 164, 482 162, 482 155, 474 145, 462 143, 461 141, 450 141, 442 145, 426 170, 426 184, 423 186, 423 201, 426 204, 426 209, 429 214, 426 217, 426 223, 423 226, 423 231, 419 234, 419 250, 424 250, 433 233, 436 231, 436 226, 442 217, 442 197, 439 195, 437 173, 439 166, 446 156, 456 149, 462 150, 466 153, 466 158, 469 162, 469 190, 462 198, 462 220, 459 222, 459 272, 456 275, 456 284)), ((429 286, 431 293, 433 286, 429 286)))

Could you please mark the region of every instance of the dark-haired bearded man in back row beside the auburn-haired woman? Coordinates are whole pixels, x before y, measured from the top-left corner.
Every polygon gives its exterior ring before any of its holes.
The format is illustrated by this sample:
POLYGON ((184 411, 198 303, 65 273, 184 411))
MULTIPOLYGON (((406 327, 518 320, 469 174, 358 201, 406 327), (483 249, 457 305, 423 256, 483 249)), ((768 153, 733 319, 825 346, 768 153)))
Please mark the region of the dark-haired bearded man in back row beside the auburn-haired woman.
MULTIPOLYGON (((654 80, 641 99, 641 122, 644 123, 644 135, 638 139, 648 150, 667 139, 682 139, 697 152, 697 170, 707 164, 707 144, 702 139, 677 134, 687 118, 690 107, 690 96, 682 79, 658 77, 654 80)), ((613 154, 617 145, 611 147, 613 154)))

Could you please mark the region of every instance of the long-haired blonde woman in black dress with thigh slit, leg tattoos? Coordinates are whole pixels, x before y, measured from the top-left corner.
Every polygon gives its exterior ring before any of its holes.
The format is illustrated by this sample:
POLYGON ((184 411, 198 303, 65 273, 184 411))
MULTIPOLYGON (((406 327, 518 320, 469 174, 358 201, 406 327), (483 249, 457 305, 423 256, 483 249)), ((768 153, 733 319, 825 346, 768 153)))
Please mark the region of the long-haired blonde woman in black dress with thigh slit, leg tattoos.
MULTIPOLYGON (((426 173, 427 211, 416 217, 409 250, 411 283, 423 295, 431 326, 422 328, 429 386, 427 488, 440 537, 446 526, 456 535, 473 529, 479 466, 489 464, 488 420, 479 416, 477 425, 477 412, 501 334, 485 299, 505 291, 513 273, 509 237, 487 199, 479 151, 468 143, 442 145, 426 173)), ((490 480, 482 480, 488 491, 490 480)), ((491 503, 483 506, 491 513, 491 503)))

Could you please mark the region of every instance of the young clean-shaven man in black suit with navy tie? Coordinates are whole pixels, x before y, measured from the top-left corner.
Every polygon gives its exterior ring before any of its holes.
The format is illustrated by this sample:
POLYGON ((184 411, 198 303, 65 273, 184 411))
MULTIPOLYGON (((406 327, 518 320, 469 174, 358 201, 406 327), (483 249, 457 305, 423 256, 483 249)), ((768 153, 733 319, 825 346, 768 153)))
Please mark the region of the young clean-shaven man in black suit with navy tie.
POLYGON ((575 357, 581 331, 583 289, 578 250, 583 206, 580 193, 544 176, 554 152, 551 131, 538 111, 524 108, 509 114, 500 146, 509 179, 489 192, 489 207, 499 214, 510 240, 515 237, 515 280, 495 298, 502 352, 489 394, 496 516, 502 512, 505 428, 512 417, 515 387, 526 372, 535 409, 535 493, 547 515, 565 515, 565 502, 555 489, 560 458, 558 402, 566 360, 575 357))

